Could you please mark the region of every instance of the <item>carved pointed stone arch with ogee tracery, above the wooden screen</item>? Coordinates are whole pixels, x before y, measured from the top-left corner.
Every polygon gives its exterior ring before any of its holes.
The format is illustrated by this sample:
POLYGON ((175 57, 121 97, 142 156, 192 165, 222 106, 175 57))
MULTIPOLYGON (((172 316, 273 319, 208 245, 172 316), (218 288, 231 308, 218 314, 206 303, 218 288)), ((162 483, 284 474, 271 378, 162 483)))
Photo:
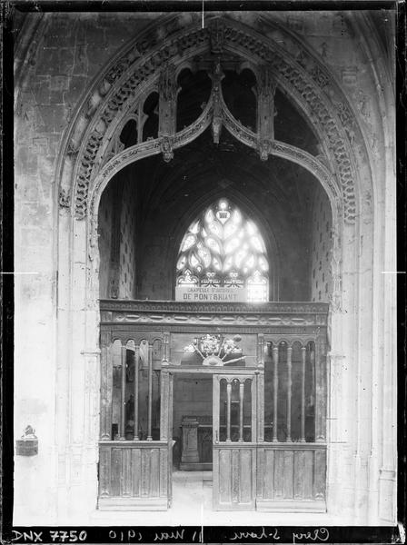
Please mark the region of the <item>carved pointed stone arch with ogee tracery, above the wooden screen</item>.
MULTIPOLYGON (((170 22, 174 28, 174 18, 167 20, 168 27, 170 22)), ((353 223, 356 173, 352 166, 351 146, 356 138, 362 140, 362 134, 350 105, 323 64, 293 35, 289 39, 298 54, 290 56, 270 38, 223 17, 213 19, 204 29, 192 26, 174 30, 164 42, 157 40, 157 35, 150 30, 128 45, 95 84, 81 113, 76 116, 66 142, 66 155, 74 160, 71 172, 75 182, 70 185, 74 186, 72 205, 76 218, 94 214, 96 195, 126 164, 160 153, 164 160, 171 160, 176 148, 188 144, 212 124, 215 139, 224 126, 243 144, 256 149, 263 159, 274 154, 302 164, 323 181, 344 220, 353 223), (267 89, 269 96, 273 94, 273 85, 283 88, 311 120, 319 134, 323 156, 314 157, 299 148, 273 140, 270 129, 264 134, 264 127, 258 127, 258 132, 253 133, 238 124, 224 107, 222 94, 216 90, 216 81, 213 80, 211 101, 194 124, 174 133, 174 122, 172 125, 171 121, 169 124, 160 122, 158 138, 131 146, 106 163, 109 142, 119 124, 123 126, 123 120, 134 104, 140 97, 145 97, 149 89, 158 89, 161 105, 174 103, 175 80, 172 74, 179 74, 185 63, 198 54, 211 54, 213 60, 220 59, 221 63, 227 55, 238 55, 242 64, 250 64, 253 68, 266 94, 267 89), (330 165, 329 169, 326 164, 330 165)), ((65 179, 62 194, 68 189, 67 185, 65 179)))

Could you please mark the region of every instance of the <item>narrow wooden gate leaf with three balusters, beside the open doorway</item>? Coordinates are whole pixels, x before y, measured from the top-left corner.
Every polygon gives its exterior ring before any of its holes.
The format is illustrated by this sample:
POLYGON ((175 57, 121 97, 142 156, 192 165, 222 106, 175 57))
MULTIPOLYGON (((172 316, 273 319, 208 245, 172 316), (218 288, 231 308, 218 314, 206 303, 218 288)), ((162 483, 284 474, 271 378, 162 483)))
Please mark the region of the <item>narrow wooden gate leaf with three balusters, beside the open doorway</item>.
POLYGON ((255 509, 258 373, 213 374, 214 510, 255 509))

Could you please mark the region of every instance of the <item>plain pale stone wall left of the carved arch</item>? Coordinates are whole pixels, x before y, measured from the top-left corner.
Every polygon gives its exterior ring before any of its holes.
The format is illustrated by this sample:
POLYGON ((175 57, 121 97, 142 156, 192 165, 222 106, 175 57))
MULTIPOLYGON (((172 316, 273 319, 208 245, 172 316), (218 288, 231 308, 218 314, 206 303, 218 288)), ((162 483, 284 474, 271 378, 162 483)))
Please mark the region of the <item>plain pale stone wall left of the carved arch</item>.
MULTIPOLYGON (((149 19, 96 13, 16 19, 18 27, 24 20, 26 26, 15 54, 15 437, 31 424, 39 440, 37 456, 15 457, 15 513, 24 524, 45 513, 52 524, 57 510, 66 512, 66 497, 58 503, 57 490, 71 471, 65 465, 73 448, 65 421, 69 372, 61 354, 72 347, 55 345, 57 328, 68 327, 56 295, 58 282, 65 282, 57 255, 70 252, 67 245, 57 249, 58 223, 68 210, 62 207, 59 215, 58 154, 94 75, 149 19), (57 395, 62 376, 65 387, 57 395)), ((60 202, 69 206, 64 197, 60 202)))

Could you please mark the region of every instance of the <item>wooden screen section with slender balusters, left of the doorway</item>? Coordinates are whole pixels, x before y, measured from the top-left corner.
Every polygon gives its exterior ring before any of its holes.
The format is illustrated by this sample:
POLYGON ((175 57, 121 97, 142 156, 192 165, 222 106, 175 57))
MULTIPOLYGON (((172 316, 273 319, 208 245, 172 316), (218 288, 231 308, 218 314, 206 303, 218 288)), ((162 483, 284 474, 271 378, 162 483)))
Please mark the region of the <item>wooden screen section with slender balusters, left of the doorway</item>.
POLYGON ((106 338, 102 346, 101 510, 169 505, 171 377, 154 369, 153 353, 145 339, 123 344, 106 338))

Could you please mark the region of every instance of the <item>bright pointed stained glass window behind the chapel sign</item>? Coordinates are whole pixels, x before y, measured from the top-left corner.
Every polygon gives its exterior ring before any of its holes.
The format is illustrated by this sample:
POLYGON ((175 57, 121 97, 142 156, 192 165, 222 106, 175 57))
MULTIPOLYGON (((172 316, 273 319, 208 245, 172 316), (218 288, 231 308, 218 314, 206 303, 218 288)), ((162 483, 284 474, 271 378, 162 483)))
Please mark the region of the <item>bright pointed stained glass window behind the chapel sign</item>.
POLYGON ((268 301, 268 260, 255 223, 221 199, 184 234, 176 264, 177 286, 246 288, 248 302, 268 301))

